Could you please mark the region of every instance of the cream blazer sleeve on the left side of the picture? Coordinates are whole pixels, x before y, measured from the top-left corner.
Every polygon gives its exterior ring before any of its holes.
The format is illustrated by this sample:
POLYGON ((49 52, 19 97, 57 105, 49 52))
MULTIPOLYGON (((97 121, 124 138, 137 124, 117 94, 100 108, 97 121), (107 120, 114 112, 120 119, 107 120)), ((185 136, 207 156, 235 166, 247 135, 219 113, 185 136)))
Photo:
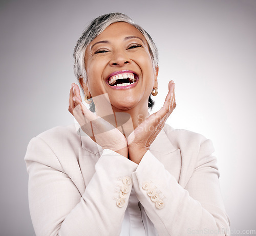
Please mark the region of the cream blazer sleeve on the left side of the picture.
POLYGON ((36 235, 119 235, 133 185, 129 178, 136 163, 103 150, 95 174, 81 195, 53 150, 40 137, 30 141, 25 161, 36 235), (119 196, 123 186, 127 192, 124 200, 119 196))

